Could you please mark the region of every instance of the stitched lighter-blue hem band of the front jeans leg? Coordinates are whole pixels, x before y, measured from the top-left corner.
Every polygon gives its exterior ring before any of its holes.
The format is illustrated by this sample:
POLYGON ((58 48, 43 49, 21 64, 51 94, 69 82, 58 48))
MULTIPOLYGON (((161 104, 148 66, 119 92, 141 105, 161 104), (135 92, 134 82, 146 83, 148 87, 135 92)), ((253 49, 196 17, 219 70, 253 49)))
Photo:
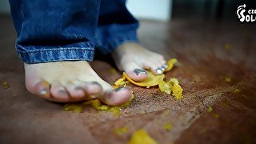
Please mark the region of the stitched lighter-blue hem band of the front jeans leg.
POLYGON ((92 61, 94 48, 62 48, 50 50, 18 50, 20 58, 28 64, 60 61, 92 61))

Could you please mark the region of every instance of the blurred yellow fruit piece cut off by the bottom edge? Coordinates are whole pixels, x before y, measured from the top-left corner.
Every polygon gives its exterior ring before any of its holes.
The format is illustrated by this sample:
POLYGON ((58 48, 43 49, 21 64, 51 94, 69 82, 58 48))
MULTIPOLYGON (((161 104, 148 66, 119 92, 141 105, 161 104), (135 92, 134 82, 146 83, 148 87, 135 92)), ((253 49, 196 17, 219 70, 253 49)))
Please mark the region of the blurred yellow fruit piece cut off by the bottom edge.
POLYGON ((136 130, 132 134, 128 144, 156 144, 153 138, 150 137, 149 134, 146 133, 145 130, 136 130))

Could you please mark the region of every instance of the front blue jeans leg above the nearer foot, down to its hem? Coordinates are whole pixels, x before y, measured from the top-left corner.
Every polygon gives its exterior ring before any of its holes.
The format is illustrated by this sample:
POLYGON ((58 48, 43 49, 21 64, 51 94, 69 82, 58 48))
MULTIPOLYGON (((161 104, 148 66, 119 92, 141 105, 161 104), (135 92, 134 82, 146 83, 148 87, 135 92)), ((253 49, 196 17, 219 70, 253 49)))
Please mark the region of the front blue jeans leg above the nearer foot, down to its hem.
POLYGON ((23 62, 90 61, 100 0, 10 0, 23 62))

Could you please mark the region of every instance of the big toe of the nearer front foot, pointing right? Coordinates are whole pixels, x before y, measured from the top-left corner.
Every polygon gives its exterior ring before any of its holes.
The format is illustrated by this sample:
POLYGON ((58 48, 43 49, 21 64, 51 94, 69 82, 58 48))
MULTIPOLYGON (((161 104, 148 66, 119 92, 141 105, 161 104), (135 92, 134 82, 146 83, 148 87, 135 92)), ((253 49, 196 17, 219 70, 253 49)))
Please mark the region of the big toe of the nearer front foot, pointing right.
POLYGON ((102 98, 99 98, 102 102, 110 106, 118 106, 127 102, 131 97, 129 88, 120 87, 116 90, 109 90, 103 94, 102 98))

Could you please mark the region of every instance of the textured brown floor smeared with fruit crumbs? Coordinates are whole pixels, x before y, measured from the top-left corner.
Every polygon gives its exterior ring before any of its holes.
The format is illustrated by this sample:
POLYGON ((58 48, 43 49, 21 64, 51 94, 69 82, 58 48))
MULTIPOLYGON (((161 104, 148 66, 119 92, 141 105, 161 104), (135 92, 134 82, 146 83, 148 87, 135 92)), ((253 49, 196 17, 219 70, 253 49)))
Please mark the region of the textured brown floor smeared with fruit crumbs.
MULTIPOLYGON (((253 26, 237 22, 173 20, 142 22, 142 45, 178 58, 175 77, 184 99, 161 94, 156 88, 133 86, 136 100, 119 117, 90 107, 82 114, 65 112, 26 91, 22 62, 14 50, 15 32, 9 17, 0 17, 0 143, 124 143, 134 130, 144 129, 160 143, 256 142, 256 38, 253 26), (225 49, 230 44, 230 50, 225 49), (226 82, 225 78, 230 78, 226 82), (235 89, 241 90, 239 93, 235 89), (213 111, 207 112, 207 106, 213 111), (172 122, 170 131, 163 130, 172 122), (114 129, 128 126, 118 136, 114 129)), ((107 82, 112 74, 106 62, 94 69, 107 82)))

